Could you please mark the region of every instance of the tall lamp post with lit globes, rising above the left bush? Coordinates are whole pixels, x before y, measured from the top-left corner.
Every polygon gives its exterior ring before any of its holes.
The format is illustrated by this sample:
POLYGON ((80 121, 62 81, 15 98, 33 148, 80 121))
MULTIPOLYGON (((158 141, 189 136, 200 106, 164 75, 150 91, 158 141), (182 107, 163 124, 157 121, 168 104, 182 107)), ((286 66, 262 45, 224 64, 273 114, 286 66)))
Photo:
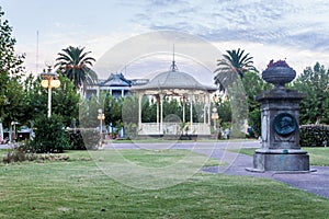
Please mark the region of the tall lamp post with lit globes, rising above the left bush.
POLYGON ((57 73, 53 73, 50 71, 52 67, 48 66, 48 71, 41 73, 41 85, 45 89, 48 89, 48 118, 50 118, 52 115, 52 89, 57 89, 60 85, 60 81, 58 80, 57 73))

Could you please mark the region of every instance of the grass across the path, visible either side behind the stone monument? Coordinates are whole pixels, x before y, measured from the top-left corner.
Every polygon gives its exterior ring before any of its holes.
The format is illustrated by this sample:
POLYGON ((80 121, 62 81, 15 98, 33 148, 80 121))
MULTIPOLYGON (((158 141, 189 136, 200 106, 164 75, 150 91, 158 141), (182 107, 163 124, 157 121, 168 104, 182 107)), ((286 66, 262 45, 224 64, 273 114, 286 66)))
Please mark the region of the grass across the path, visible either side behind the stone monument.
MULTIPOLYGON (((256 148, 241 148, 235 152, 253 155, 256 148)), ((303 148, 309 154, 310 165, 329 166, 329 148, 303 148)))

